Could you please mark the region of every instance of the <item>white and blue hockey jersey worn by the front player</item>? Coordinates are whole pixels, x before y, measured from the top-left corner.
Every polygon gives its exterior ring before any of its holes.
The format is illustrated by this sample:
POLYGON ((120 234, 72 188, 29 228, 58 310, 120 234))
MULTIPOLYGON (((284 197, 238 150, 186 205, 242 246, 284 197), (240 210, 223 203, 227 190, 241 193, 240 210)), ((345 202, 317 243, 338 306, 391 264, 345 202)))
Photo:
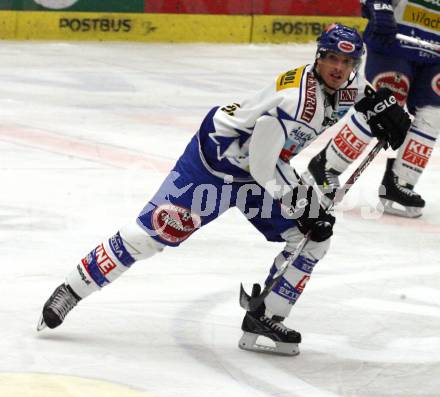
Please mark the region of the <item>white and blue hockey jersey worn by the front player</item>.
POLYGON ((356 75, 330 97, 313 65, 283 73, 250 98, 208 113, 198 133, 202 161, 219 177, 257 181, 280 197, 297 185, 289 160, 326 128, 350 117, 365 84, 356 75))

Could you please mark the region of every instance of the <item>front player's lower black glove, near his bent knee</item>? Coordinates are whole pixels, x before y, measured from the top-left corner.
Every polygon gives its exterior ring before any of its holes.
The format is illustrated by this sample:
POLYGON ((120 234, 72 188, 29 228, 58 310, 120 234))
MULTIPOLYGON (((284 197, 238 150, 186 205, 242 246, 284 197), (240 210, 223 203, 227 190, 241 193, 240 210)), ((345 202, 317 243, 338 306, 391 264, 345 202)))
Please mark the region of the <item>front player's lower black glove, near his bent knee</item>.
POLYGON ((303 234, 310 232, 310 240, 321 242, 333 235, 336 219, 321 207, 311 186, 297 186, 282 198, 282 202, 290 208, 299 231, 303 234))

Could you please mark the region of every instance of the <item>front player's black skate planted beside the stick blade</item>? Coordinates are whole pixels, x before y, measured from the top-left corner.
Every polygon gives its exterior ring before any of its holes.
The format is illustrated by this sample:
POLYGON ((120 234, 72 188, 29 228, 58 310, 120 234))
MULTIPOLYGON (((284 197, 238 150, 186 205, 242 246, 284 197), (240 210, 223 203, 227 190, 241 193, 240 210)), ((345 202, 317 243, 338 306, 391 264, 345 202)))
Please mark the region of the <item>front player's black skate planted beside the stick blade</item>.
MULTIPOLYGON (((257 296, 261 290, 259 284, 254 284, 252 295, 257 296), (256 287, 258 286, 258 287, 256 287)), ((268 317, 265 315, 264 303, 254 312, 246 312, 241 329, 243 336, 238 342, 238 347, 243 350, 251 350, 263 353, 274 353, 285 356, 299 354, 298 343, 301 343, 301 334, 287 328, 279 316, 268 317), (263 336, 271 339, 275 346, 257 344, 258 337, 263 336)))

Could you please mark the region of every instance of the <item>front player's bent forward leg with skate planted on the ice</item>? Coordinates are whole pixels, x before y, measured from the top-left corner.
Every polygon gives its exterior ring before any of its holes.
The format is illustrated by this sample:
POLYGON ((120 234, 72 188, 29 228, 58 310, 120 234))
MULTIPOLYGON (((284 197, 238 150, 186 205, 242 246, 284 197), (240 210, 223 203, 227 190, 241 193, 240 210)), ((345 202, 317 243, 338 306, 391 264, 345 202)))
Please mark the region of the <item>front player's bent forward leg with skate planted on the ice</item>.
MULTIPOLYGON (((267 211, 267 206, 270 203, 267 193, 263 199, 252 197, 247 203, 250 207, 260 209, 257 215, 249 221, 266 239, 286 242, 283 251, 277 255, 270 268, 265 281, 268 284, 286 258, 295 252, 304 235, 294 226, 294 221, 281 214, 280 206, 275 201, 272 201, 271 210, 267 211), (270 217, 267 217, 268 213, 270 213, 270 217)), ((244 333, 239 342, 240 348, 285 355, 299 353, 298 344, 301 342, 301 334, 286 327, 283 321, 289 316, 292 306, 302 294, 314 266, 324 257, 329 244, 330 239, 319 243, 309 241, 297 259, 289 266, 278 285, 266 297, 264 303, 256 311, 246 312, 242 323, 244 333), (275 348, 257 343, 257 339, 260 337, 271 339, 275 342, 275 348)), ((253 293, 259 294, 259 289, 258 284, 254 285, 253 293)))

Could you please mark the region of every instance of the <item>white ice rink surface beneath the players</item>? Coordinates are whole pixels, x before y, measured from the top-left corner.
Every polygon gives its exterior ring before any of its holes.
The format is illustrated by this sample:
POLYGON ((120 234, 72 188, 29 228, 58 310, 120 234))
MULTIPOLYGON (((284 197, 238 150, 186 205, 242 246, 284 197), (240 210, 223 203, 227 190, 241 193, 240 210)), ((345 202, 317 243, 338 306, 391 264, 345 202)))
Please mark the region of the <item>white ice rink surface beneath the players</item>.
POLYGON ((237 348, 240 282, 263 282, 283 245, 235 209, 136 263, 58 329, 35 330, 53 289, 137 216, 212 106, 313 54, 313 45, 1 42, 0 379, 21 374, 24 387, 32 373, 60 374, 150 397, 440 396, 440 152, 417 186, 420 219, 376 210, 385 153, 350 191, 331 250, 286 320, 303 335, 299 356, 237 348))

